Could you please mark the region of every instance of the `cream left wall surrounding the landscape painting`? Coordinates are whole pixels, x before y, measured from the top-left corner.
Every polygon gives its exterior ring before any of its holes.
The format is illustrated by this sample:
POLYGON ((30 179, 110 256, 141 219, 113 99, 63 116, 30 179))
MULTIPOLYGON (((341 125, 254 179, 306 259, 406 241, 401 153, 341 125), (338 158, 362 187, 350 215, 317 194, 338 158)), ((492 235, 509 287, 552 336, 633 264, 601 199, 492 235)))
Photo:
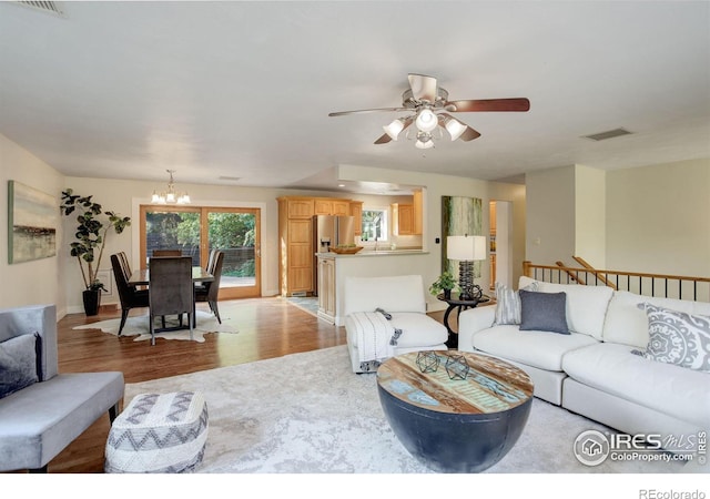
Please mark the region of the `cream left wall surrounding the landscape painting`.
POLYGON ((49 258, 8 264, 8 181, 17 181, 57 197, 59 203, 63 176, 28 151, 0 134, 0 308, 24 305, 57 304, 58 315, 64 315, 63 279, 59 264, 63 251, 62 232, 57 233, 57 254, 49 258))

